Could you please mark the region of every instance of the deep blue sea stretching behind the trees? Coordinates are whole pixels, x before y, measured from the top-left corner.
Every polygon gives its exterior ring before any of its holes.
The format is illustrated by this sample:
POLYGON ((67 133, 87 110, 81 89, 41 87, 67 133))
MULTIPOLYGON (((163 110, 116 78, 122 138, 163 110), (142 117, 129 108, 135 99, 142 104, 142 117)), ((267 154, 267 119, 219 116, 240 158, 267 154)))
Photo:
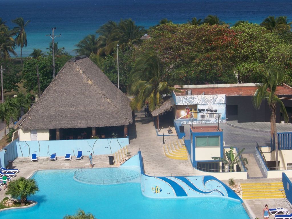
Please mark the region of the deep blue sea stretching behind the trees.
MULTIPOLYGON (((217 15, 231 25, 238 20, 260 23, 267 16, 287 16, 292 20, 292 0, 0 0, 0 18, 13 28, 11 20, 23 17, 31 22, 26 28, 28 45, 23 56, 33 48, 46 51, 51 38, 59 47, 72 51, 81 39, 93 34, 105 22, 131 18, 145 28, 167 18, 185 23, 193 17, 217 15)), ((20 56, 20 48, 15 50, 20 56)))

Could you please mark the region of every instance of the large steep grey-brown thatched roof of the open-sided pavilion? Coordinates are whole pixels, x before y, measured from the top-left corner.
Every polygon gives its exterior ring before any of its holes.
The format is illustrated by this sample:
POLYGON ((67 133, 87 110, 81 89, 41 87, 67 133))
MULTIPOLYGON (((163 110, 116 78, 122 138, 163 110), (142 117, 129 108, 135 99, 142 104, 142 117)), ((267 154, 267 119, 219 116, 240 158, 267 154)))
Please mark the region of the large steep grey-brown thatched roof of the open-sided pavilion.
POLYGON ((24 130, 132 123, 130 99, 89 59, 72 58, 18 122, 24 130))

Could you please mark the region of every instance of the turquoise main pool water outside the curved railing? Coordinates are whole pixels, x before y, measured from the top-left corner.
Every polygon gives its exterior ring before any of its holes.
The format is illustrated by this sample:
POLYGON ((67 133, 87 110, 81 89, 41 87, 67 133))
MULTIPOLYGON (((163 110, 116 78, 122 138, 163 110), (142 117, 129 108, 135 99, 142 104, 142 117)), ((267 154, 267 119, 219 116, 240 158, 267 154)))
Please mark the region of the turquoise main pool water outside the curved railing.
POLYGON ((119 218, 217 218, 248 219, 239 201, 226 198, 151 199, 141 193, 140 183, 92 185, 74 180, 76 170, 38 171, 39 192, 29 197, 32 208, 0 212, 0 218, 63 218, 78 209, 98 219, 119 218))

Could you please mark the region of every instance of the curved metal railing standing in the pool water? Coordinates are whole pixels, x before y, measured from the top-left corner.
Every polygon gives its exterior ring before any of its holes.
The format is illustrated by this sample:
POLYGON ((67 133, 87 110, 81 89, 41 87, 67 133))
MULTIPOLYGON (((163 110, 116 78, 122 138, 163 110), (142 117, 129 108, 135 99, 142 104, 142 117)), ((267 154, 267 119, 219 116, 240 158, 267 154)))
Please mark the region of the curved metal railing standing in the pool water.
POLYGON ((75 171, 74 179, 83 183, 98 184, 98 185, 126 183, 139 177, 139 174, 136 174, 133 176, 119 178, 119 179, 91 179, 91 178, 84 178, 84 177, 79 176, 79 174, 81 173, 82 173, 82 169, 78 169, 77 171, 75 171))

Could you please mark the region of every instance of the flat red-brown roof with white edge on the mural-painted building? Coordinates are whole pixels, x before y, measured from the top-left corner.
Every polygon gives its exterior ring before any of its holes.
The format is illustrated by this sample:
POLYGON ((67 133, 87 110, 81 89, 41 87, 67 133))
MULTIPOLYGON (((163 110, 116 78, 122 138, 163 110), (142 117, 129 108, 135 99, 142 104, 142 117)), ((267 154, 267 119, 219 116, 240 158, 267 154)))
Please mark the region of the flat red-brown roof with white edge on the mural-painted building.
MULTIPOLYGON (((185 91, 192 90, 192 95, 216 95, 225 94, 227 96, 252 96, 254 95, 258 84, 207 84, 207 85, 186 85, 184 88, 176 88, 183 93, 175 93, 175 95, 185 95, 185 91)), ((292 94, 292 88, 286 84, 277 87, 277 95, 292 94)))

